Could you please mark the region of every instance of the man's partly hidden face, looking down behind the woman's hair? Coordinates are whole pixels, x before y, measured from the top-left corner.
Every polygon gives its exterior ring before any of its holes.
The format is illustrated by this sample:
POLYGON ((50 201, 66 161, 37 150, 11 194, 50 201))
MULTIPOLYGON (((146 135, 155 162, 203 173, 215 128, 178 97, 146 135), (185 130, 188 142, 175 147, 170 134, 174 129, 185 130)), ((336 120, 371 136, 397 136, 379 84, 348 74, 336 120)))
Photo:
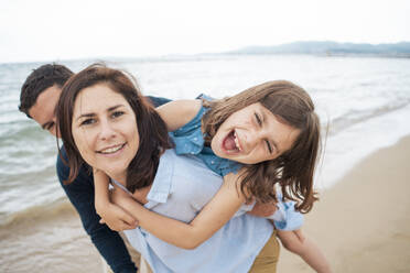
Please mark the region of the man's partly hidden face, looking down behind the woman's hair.
POLYGON ((35 105, 29 110, 30 116, 41 128, 51 134, 60 138, 60 132, 55 125, 55 107, 57 106, 62 89, 54 85, 40 94, 35 105))

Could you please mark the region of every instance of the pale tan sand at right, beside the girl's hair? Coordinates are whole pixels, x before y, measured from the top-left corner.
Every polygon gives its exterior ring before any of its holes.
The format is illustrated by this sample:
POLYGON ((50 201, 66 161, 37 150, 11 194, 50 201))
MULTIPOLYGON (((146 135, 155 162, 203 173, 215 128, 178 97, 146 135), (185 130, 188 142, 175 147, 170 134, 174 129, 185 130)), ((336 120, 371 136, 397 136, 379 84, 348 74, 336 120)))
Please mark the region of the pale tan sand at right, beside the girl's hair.
MULTIPOLYGON (((410 135, 324 189, 303 230, 334 272, 410 272, 410 135)), ((278 272, 314 272, 281 249, 278 272)))

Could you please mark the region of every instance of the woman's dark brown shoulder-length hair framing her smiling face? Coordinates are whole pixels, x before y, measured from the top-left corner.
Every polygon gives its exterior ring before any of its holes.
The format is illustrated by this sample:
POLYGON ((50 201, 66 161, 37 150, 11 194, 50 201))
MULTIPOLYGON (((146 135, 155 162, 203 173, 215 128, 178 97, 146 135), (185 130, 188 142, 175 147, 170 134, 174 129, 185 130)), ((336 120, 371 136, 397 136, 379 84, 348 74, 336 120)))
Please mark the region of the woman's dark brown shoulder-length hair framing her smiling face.
POLYGON ((69 166, 69 176, 65 184, 72 183, 78 175, 79 167, 85 164, 72 132, 74 103, 83 89, 97 84, 105 84, 121 94, 136 114, 140 145, 127 168, 127 189, 133 193, 138 188, 152 184, 161 153, 170 149, 171 144, 165 123, 133 81, 131 75, 127 76, 121 70, 94 64, 71 77, 64 85, 56 116, 69 166))

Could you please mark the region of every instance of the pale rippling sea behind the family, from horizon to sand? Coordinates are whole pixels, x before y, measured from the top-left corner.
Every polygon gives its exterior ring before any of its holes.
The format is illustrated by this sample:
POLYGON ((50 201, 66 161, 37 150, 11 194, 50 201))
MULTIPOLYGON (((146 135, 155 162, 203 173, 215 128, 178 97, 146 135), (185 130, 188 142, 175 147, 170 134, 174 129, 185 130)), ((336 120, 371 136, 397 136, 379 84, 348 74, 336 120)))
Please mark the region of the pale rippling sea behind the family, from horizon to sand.
MULTIPOLYGON (((57 63, 79 72, 95 62, 131 73, 144 95, 170 99, 199 94, 223 98, 273 79, 300 85, 312 96, 322 123, 315 176, 320 189, 335 185, 370 153, 410 134, 410 58, 222 54, 57 63)), ((56 139, 18 110, 25 77, 42 64, 0 64, 3 230, 69 206, 55 173, 56 139)))

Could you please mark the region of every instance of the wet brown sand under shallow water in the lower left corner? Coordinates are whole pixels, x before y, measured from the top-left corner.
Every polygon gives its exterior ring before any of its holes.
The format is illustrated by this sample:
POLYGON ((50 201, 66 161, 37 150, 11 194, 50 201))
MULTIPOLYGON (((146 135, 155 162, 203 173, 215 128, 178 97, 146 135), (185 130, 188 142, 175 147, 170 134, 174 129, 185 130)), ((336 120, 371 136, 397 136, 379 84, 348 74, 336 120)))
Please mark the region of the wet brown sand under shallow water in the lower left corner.
POLYGON ((0 227, 0 272, 101 272, 98 251, 77 212, 63 205, 0 227))

